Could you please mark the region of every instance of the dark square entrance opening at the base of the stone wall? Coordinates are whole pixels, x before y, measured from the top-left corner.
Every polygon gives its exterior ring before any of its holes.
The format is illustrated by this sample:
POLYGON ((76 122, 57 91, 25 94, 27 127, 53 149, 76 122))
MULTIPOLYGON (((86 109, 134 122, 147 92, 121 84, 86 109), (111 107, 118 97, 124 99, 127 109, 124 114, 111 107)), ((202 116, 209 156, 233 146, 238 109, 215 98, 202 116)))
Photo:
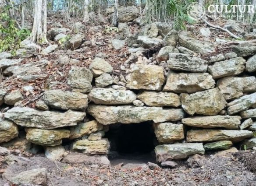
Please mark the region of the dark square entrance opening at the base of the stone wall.
POLYGON ((106 137, 110 140, 110 158, 145 159, 153 161, 156 136, 151 122, 136 124, 114 124, 106 137), (150 158, 150 160, 149 160, 150 158))

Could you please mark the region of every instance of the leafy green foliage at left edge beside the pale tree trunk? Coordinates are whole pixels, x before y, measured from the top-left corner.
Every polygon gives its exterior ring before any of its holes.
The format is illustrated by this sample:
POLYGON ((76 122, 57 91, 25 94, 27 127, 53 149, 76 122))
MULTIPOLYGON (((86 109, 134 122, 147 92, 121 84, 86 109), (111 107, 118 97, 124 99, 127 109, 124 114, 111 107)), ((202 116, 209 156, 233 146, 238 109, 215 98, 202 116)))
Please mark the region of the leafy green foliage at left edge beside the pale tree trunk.
POLYGON ((22 40, 30 35, 26 29, 18 29, 16 22, 6 12, 0 13, 0 52, 11 50, 14 54, 22 40))

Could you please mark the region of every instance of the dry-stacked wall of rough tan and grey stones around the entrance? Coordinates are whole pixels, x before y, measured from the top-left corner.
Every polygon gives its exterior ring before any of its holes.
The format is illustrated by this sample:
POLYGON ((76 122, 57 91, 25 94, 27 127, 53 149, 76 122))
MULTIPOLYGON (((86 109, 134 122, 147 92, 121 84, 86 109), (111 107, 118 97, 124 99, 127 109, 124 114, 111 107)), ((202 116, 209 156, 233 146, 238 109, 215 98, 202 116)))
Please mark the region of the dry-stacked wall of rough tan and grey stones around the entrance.
POLYGON ((255 46, 235 46, 235 53, 203 59, 200 55, 213 52, 214 46, 188 34, 171 31, 163 40, 138 38, 144 47, 160 42, 164 47, 156 55, 157 63, 143 60, 135 50, 131 56, 137 62, 126 65, 122 85, 110 75, 113 67, 95 58, 88 69, 71 68, 71 91, 45 91, 36 109, 16 106, 23 99, 18 90, 2 90, 0 103, 14 107, 2 114, 0 143, 14 147, 19 126, 26 135, 21 143, 45 147, 50 158, 53 151, 64 151, 63 139, 74 151, 108 154, 110 143, 104 134, 109 125, 149 121, 159 142, 158 162, 256 146, 255 46))

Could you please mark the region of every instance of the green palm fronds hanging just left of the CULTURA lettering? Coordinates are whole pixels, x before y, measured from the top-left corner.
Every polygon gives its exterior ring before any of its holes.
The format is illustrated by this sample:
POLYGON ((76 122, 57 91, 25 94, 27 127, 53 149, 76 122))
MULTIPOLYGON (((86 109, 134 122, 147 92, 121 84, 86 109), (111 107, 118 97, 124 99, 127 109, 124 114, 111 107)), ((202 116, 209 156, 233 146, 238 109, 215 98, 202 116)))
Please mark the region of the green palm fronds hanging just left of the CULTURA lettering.
POLYGON ((174 17, 174 29, 186 30, 185 22, 193 24, 194 20, 188 15, 191 0, 170 0, 170 15, 174 17))

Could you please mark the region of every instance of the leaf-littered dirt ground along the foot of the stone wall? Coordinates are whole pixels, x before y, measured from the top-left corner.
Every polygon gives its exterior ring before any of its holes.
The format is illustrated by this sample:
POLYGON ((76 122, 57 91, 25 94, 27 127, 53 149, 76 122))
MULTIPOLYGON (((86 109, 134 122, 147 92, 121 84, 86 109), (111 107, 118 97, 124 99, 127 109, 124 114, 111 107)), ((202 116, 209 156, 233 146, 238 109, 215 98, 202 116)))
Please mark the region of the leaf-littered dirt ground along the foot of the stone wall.
MULTIPOLYGON (((47 186, 256 186, 255 154, 255 151, 240 151, 221 157, 208 154, 190 163, 177 161, 176 168, 153 170, 146 165, 146 157, 133 161, 118 157, 110 161, 111 166, 103 166, 62 163, 42 156, 9 155, 2 157, 0 172, 12 176, 44 167, 48 171, 47 186)), ((13 185, 1 177, 0 186, 13 185)))

